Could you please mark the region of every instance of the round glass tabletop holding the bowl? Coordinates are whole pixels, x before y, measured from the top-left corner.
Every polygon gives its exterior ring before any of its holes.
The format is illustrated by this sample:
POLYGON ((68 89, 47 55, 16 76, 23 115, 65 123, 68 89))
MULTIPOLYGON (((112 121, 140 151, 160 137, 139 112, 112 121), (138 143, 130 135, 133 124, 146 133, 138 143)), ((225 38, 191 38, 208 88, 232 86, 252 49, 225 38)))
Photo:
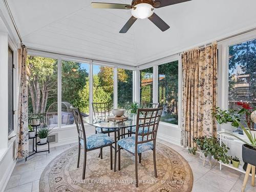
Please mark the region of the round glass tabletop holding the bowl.
POLYGON ((127 116, 128 116, 127 119, 123 121, 112 121, 112 120, 109 120, 108 117, 94 118, 94 117, 88 116, 83 118, 83 122, 95 127, 106 128, 106 129, 119 129, 119 128, 136 126, 137 114, 129 114, 127 116))

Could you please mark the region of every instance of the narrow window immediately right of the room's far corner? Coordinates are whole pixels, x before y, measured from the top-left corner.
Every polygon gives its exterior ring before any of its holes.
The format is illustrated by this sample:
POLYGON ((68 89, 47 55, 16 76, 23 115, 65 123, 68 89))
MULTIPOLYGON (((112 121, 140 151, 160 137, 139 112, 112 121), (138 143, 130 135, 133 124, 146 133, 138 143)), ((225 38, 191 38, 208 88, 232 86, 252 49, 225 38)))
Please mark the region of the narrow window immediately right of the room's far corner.
POLYGON ((140 71, 140 103, 153 102, 153 67, 140 71))

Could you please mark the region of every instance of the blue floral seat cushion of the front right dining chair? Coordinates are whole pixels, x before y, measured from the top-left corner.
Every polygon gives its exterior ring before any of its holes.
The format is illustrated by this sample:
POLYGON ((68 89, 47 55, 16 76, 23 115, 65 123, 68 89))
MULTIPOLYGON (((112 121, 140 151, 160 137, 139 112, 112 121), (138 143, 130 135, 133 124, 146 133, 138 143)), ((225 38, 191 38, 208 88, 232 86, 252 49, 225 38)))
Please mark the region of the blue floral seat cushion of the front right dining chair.
MULTIPOLYGON (((138 136, 138 141, 142 140, 142 136, 138 136)), ((132 137, 126 137, 124 139, 120 139, 117 141, 117 144, 120 145, 124 150, 135 153, 135 135, 132 137)), ((149 141, 146 143, 138 144, 138 153, 142 153, 148 150, 152 150, 154 148, 153 141, 149 141)))

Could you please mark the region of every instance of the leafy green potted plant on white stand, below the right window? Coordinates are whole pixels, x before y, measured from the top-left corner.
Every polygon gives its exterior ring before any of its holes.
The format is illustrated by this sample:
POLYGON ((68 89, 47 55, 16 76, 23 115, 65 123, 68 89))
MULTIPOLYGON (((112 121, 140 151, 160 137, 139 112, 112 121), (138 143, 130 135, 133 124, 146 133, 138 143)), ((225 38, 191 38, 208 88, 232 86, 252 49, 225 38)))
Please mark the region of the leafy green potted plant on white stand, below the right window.
POLYGON ((237 121, 240 121, 240 115, 235 114, 233 110, 221 110, 220 108, 216 108, 216 111, 212 110, 212 115, 219 124, 231 122, 232 126, 239 126, 237 121))

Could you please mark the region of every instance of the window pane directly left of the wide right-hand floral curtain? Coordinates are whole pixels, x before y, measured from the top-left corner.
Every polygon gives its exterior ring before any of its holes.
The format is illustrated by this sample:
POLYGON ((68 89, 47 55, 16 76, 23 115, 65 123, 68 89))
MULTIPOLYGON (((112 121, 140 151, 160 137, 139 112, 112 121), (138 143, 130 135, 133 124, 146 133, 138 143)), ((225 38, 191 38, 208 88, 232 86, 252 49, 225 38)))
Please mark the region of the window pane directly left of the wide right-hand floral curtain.
POLYGON ((178 61, 158 66, 158 100, 164 108, 160 121, 178 124, 178 61))

